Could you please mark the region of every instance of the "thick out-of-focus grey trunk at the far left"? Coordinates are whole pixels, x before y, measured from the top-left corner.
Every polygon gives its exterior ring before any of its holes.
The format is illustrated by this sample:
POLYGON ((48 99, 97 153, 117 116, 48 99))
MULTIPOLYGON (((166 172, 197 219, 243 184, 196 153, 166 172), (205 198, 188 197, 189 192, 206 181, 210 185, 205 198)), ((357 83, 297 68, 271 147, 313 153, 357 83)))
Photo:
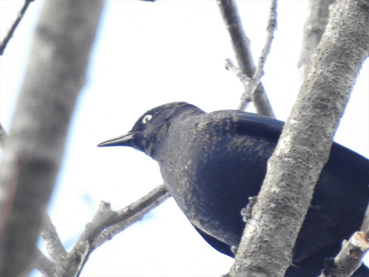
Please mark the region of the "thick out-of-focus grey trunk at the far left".
POLYGON ((28 275, 103 1, 46 1, 0 167, 0 276, 28 275))

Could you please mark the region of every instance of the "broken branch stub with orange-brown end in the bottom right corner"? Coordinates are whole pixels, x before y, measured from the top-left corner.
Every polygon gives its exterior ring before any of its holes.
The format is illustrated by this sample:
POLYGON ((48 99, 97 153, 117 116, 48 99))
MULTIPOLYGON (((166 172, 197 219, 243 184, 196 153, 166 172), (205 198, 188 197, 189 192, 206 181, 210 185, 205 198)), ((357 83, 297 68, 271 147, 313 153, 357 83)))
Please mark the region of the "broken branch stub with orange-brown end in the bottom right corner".
POLYGON ((329 259, 320 277, 351 276, 362 264, 362 258, 369 249, 363 232, 355 232, 349 240, 342 242, 341 251, 329 259))

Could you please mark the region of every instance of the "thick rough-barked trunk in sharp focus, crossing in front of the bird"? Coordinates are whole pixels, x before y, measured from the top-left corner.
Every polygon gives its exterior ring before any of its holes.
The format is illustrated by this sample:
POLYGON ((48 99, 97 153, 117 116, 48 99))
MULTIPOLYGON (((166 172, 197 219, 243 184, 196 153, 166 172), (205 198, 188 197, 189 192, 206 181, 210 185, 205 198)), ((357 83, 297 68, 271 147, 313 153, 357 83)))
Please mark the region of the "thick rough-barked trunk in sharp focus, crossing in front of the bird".
POLYGON ((332 6, 317 55, 268 162, 230 276, 283 276, 291 263, 314 185, 368 56, 368 10, 368 0, 340 0, 332 6))

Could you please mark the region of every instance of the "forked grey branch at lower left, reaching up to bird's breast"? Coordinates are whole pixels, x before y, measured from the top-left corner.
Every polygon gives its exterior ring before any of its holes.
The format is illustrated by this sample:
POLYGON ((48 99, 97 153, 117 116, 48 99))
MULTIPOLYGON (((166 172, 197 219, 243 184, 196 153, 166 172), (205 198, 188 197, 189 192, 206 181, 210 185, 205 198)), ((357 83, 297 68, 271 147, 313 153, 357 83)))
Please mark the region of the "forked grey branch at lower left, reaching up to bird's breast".
MULTIPOLYGON (((141 199, 133 202, 127 207, 118 211, 111 211, 110 204, 101 201, 99 210, 90 223, 86 225, 85 232, 80 236, 73 249, 65 253, 64 247, 61 246, 55 227, 48 218, 42 231, 42 236, 46 241, 46 248, 54 260, 58 276, 79 276, 83 266, 86 264, 90 254, 104 242, 110 240, 133 223, 141 220, 142 217, 159 206, 167 198, 169 192, 165 185, 159 185, 141 199)), ((39 256, 41 259, 37 262, 38 269, 44 270, 44 256, 39 256), (40 268, 41 267, 41 268, 40 268)), ((52 263, 49 261, 49 263, 52 263)))

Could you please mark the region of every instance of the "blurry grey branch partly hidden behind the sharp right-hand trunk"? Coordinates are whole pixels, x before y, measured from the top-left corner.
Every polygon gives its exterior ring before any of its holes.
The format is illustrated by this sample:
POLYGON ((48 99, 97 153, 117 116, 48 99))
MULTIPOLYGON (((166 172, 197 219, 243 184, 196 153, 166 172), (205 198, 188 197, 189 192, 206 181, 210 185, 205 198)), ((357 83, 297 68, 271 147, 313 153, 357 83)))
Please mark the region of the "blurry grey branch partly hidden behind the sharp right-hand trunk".
POLYGON ((302 49, 297 67, 300 69, 301 81, 306 76, 307 67, 311 63, 329 18, 329 6, 335 0, 310 0, 308 16, 304 25, 302 49))

